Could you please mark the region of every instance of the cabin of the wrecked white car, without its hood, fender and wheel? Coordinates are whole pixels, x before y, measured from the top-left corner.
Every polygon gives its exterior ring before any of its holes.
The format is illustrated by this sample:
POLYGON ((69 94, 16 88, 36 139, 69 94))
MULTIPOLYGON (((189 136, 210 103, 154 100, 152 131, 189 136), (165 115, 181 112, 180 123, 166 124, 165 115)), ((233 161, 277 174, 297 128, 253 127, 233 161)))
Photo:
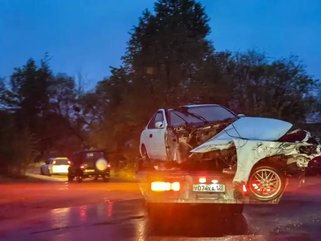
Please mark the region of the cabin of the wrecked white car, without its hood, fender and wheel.
POLYGON ((219 132, 220 126, 213 123, 219 122, 221 125, 221 121, 244 116, 236 115, 217 104, 195 104, 179 108, 160 109, 154 113, 140 138, 143 159, 174 160, 180 163, 185 155, 183 147, 179 146, 194 149, 219 132))

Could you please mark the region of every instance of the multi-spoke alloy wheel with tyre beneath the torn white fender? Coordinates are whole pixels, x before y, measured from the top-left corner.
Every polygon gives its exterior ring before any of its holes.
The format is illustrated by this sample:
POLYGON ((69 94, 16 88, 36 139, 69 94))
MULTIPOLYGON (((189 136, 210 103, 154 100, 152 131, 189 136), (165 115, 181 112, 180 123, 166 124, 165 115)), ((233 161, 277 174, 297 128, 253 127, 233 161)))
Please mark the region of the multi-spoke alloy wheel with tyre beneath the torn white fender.
POLYGON ((258 165, 254 167, 251 170, 247 182, 249 195, 257 201, 272 201, 280 197, 284 192, 285 186, 286 177, 283 175, 283 173, 279 169, 269 165, 258 165), (271 180, 275 180, 272 183, 277 183, 277 185, 271 184, 271 180), (265 182, 264 186, 263 184, 259 183, 259 181, 265 182), (264 195, 261 192, 263 190, 270 192, 270 194, 268 193, 267 195, 264 195))

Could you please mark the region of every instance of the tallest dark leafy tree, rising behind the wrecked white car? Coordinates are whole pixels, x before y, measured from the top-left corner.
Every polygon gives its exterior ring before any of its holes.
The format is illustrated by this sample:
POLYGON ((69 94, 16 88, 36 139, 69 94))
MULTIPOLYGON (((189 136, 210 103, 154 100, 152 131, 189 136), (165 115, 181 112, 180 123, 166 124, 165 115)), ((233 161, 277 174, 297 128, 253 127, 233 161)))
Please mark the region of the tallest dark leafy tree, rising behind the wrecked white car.
POLYGON ((131 32, 123 66, 112 68, 111 77, 96 90, 107 101, 100 130, 117 143, 117 152, 128 141, 137 148, 143 126, 158 107, 188 98, 193 75, 212 55, 208 21, 194 0, 160 0, 153 14, 143 12, 131 32))

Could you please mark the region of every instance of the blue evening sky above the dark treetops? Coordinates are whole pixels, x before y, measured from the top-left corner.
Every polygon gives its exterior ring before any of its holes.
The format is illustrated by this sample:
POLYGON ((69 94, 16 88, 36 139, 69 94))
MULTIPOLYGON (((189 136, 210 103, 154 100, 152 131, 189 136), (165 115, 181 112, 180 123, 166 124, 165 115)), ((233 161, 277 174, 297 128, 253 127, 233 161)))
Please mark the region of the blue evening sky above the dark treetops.
MULTIPOLYGON (((0 0, 0 76, 48 52, 55 72, 81 70, 92 86, 118 67, 128 31, 153 0, 0 0)), ((217 50, 298 55, 321 78, 321 1, 201 0, 217 50)))

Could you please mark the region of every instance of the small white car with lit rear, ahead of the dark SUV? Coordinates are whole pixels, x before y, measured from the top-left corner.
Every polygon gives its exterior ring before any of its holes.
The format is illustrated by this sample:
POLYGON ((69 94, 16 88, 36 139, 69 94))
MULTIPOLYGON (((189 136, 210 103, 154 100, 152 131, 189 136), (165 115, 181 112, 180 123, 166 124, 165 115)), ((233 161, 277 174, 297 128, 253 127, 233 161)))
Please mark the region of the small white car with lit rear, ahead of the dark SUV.
POLYGON ((52 174, 68 174, 68 167, 70 161, 67 157, 55 157, 49 158, 40 167, 40 173, 42 175, 51 176, 52 174))

